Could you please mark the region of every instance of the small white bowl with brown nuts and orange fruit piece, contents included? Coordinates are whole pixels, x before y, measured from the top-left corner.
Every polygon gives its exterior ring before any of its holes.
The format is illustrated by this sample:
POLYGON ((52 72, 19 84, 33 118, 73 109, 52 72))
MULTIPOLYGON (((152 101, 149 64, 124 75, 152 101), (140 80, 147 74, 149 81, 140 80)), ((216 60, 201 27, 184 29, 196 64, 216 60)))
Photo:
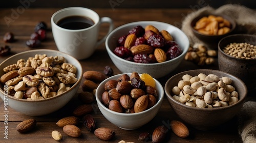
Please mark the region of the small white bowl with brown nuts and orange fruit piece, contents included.
POLYGON ((146 73, 114 75, 102 81, 96 90, 102 115, 124 130, 135 130, 150 122, 157 115, 163 97, 161 83, 146 73))

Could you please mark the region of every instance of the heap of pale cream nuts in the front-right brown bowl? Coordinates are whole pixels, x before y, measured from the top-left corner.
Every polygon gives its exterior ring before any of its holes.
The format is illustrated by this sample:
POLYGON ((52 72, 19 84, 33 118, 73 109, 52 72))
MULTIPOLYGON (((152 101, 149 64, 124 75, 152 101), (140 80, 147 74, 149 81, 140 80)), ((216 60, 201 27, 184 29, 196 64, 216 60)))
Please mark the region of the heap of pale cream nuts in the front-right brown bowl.
POLYGON ((185 105, 199 108, 224 107, 236 104, 239 94, 231 85, 229 77, 218 77, 215 74, 198 76, 185 74, 183 80, 173 87, 173 98, 185 105))

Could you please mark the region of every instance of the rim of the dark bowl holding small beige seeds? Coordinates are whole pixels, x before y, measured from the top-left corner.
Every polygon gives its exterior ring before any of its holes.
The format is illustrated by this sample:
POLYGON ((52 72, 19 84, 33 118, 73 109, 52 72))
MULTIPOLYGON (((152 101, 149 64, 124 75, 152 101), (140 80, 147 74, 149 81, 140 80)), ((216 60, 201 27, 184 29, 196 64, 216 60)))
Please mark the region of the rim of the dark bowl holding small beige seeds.
MULTIPOLYGON (((241 60, 241 61, 243 61, 243 60, 245 60, 245 61, 255 61, 256 59, 240 59, 240 58, 234 58, 233 56, 231 56, 231 55, 225 53, 225 52, 222 50, 224 47, 220 47, 220 44, 221 44, 223 41, 225 41, 227 38, 230 38, 230 37, 239 37, 239 36, 241 36, 241 37, 243 37, 243 36, 254 37, 254 38, 256 39, 256 35, 251 35, 251 34, 232 34, 232 35, 228 35, 228 36, 226 36, 226 37, 223 37, 223 38, 219 41, 219 43, 218 43, 218 50, 219 50, 222 54, 224 54, 224 55, 226 55, 226 56, 228 56, 229 58, 232 58, 232 59, 241 60)), ((256 45, 255 45, 255 46, 256 46, 256 45)))

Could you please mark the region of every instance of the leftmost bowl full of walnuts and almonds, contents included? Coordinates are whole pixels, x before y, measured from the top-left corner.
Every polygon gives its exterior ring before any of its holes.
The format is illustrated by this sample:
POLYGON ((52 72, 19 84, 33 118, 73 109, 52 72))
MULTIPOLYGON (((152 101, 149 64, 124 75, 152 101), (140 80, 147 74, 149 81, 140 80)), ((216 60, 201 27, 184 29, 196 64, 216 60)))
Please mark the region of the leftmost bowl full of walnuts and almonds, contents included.
POLYGON ((82 79, 82 67, 75 58, 48 49, 15 54, 0 69, 0 96, 6 108, 30 116, 47 115, 65 106, 82 79))

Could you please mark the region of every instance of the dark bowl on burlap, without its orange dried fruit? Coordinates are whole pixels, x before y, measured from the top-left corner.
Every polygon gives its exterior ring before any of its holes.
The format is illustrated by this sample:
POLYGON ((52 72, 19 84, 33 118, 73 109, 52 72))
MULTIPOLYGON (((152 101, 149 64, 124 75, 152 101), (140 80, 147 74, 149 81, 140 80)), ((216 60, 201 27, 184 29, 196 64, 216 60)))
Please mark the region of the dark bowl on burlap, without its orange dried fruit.
POLYGON ((223 15, 223 14, 211 14, 211 15, 221 16, 221 17, 225 18, 226 20, 228 20, 231 24, 230 31, 226 34, 223 34, 223 35, 205 35, 205 34, 199 33, 197 30, 195 30, 194 26, 196 25, 196 22, 204 16, 209 16, 209 14, 201 14, 201 15, 195 17, 193 20, 191 20, 190 28, 191 28, 193 34, 199 40, 205 42, 209 46, 208 48, 217 49, 218 48, 218 43, 222 38, 224 38, 228 35, 231 35, 235 32, 237 23, 236 23, 236 21, 234 21, 234 19, 232 19, 231 17, 229 17, 227 15, 223 15))

